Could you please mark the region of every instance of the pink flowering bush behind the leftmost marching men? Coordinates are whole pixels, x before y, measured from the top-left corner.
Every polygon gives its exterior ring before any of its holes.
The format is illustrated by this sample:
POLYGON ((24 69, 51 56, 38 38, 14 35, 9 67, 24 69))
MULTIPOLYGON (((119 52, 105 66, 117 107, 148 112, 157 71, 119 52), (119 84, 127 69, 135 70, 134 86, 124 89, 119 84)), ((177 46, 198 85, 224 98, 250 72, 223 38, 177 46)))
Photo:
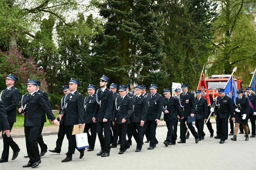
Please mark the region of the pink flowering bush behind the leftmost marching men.
POLYGON ((39 80, 40 89, 47 89, 46 73, 43 69, 37 68, 32 58, 26 59, 18 51, 0 51, 0 90, 6 88, 4 80, 9 73, 18 77, 15 87, 20 90, 21 94, 27 93, 26 81, 29 78, 39 80))

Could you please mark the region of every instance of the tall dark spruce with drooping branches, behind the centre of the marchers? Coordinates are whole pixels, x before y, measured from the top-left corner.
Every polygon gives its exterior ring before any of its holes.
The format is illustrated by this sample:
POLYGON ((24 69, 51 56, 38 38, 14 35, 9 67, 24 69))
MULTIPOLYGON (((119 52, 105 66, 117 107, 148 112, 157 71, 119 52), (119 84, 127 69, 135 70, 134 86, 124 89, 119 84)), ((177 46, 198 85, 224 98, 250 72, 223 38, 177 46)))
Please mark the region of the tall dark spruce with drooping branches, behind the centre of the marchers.
POLYGON ((116 83, 159 83, 163 60, 162 19, 157 1, 106 0, 97 4, 105 31, 93 46, 97 77, 116 83))

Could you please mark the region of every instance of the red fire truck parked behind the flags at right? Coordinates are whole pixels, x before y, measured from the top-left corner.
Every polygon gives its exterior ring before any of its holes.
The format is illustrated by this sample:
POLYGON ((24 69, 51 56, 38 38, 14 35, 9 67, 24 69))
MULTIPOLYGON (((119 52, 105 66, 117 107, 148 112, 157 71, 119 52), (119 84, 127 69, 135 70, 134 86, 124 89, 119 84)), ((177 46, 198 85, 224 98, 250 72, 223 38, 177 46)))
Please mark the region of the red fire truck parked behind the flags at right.
MULTIPOLYGON (((215 99, 218 96, 218 89, 224 88, 227 81, 229 80, 231 75, 224 74, 224 75, 212 75, 206 80, 206 85, 208 88, 208 93, 212 94, 212 98, 215 99)), ((235 85, 237 89, 243 88, 242 82, 243 80, 237 80, 234 78, 235 85)))

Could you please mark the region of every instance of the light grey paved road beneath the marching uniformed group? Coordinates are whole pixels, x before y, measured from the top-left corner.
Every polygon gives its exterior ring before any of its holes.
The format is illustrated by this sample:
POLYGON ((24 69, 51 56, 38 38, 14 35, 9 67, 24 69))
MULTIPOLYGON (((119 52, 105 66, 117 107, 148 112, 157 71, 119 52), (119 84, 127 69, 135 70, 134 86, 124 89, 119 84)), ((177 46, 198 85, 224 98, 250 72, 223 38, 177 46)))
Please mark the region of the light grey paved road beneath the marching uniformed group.
MULTIPOLYGON (((216 124, 213 124, 216 128, 216 124)), ((179 127, 178 127, 179 129, 179 127)), ((79 159, 79 152, 75 151, 73 161, 62 163, 67 152, 67 140, 63 141, 61 154, 47 152, 41 158, 42 163, 38 170, 82 170, 82 169, 107 169, 107 170, 234 170, 247 169, 256 170, 256 138, 245 141, 242 134, 238 134, 237 141, 226 140, 225 144, 219 144, 219 140, 209 137, 209 132, 205 126, 206 137, 195 144, 194 137, 186 141, 186 144, 176 144, 165 147, 167 128, 157 128, 157 139, 159 144, 153 150, 147 150, 149 144, 144 144, 142 151, 135 153, 136 143, 133 144, 123 155, 119 155, 119 148, 111 149, 110 157, 99 157, 96 153, 100 151, 99 140, 96 148, 92 152, 85 152, 82 159, 79 159)), ((216 130, 215 130, 216 132, 216 130)), ((179 134, 179 132, 178 132, 179 134)), ((216 134, 215 134, 216 135, 216 134)), ((48 144, 48 149, 55 148, 57 135, 44 136, 44 141, 48 144)), ((12 151, 10 151, 9 162, 0 163, 0 170, 24 170, 28 158, 26 155, 25 138, 16 138, 15 141, 21 147, 21 152, 16 160, 12 161, 12 151)), ((3 141, 0 140, 0 152, 2 152, 3 141)), ((30 169, 30 168, 27 168, 30 169)))

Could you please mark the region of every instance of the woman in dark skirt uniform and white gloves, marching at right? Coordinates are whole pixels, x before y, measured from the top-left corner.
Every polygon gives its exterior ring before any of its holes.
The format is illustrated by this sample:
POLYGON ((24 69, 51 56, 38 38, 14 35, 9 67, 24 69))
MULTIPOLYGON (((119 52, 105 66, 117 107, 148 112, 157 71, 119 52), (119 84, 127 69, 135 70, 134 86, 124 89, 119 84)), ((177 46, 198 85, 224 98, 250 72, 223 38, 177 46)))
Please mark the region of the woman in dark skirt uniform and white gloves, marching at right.
POLYGON ((244 128, 245 140, 249 140, 248 127, 247 127, 249 101, 248 101, 248 98, 243 95, 242 89, 239 89, 237 93, 238 93, 238 97, 235 98, 235 102, 234 102, 234 113, 235 113, 234 137, 232 137, 231 140, 236 141, 237 132, 240 124, 242 124, 244 128))

